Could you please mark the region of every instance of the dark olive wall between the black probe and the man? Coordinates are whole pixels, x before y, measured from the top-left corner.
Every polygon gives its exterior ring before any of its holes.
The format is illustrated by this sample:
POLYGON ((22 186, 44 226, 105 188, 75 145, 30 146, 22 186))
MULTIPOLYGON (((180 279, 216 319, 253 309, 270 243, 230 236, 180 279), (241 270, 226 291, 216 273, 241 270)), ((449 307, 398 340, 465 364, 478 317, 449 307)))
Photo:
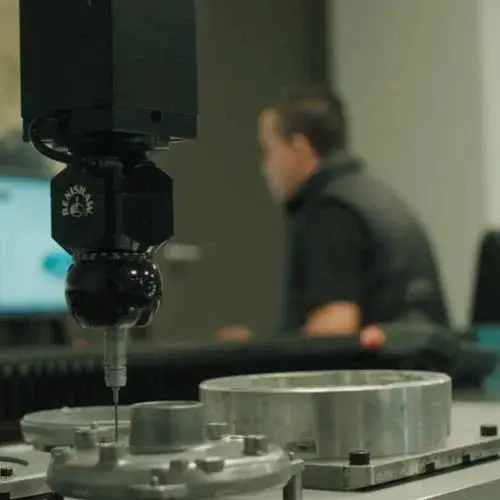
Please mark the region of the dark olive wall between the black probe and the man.
POLYGON ((325 76, 324 3, 311 5, 197 3, 199 137, 159 164, 174 179, 174 241, 199 248, 200 258, 161 263, 165 299, 152 328, 158 339, 202 342, 234 324, 258 337, 274 331, 283 228, 260 172, 257 116, 280 87, 325 76))

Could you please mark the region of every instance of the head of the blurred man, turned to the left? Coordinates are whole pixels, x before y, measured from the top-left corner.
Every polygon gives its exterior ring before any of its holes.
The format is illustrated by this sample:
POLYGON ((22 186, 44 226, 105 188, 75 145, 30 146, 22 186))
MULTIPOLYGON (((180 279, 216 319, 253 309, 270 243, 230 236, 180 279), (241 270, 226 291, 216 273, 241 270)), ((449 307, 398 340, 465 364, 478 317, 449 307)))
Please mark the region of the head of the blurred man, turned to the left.
POLYGON ((328 88, 288 89, 260 114, 259 139, 269 189, 285 201, 327 156, 345 149, 342 103, 328 88))

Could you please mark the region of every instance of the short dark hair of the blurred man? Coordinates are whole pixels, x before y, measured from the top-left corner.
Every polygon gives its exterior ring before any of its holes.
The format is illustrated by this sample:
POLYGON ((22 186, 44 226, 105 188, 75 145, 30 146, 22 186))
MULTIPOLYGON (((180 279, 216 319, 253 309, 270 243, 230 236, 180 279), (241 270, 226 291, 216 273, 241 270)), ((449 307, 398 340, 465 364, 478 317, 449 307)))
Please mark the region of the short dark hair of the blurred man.
POLYGON ((347 147, 344 107, 328 87, 284 89, 271 109, 278 115, 283 137, 302 134, 320 157, 347 147))

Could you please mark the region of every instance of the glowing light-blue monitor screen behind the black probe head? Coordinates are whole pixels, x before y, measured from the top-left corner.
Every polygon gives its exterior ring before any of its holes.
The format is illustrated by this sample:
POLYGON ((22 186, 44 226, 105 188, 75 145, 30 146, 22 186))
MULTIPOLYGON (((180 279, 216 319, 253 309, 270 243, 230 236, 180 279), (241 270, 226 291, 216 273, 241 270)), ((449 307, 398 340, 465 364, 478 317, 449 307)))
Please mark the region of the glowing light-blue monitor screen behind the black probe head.
POLYGON ((70 263, 50 235, 50 180, 0 173, 0 315, 65 312, 70 263))

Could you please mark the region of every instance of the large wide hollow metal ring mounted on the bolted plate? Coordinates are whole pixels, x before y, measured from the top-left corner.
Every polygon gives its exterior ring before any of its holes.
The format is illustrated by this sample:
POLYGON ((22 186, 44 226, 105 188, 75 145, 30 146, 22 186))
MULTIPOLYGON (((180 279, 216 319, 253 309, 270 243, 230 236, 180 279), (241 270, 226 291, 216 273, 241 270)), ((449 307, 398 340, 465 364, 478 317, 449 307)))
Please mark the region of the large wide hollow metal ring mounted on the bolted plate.
POLYGON ((302 458, 422 453, 444 447, 450 434, 451 380, 440 373, 247 375, 208 380, 200 391, 206 421, 266 434, 302 458))

